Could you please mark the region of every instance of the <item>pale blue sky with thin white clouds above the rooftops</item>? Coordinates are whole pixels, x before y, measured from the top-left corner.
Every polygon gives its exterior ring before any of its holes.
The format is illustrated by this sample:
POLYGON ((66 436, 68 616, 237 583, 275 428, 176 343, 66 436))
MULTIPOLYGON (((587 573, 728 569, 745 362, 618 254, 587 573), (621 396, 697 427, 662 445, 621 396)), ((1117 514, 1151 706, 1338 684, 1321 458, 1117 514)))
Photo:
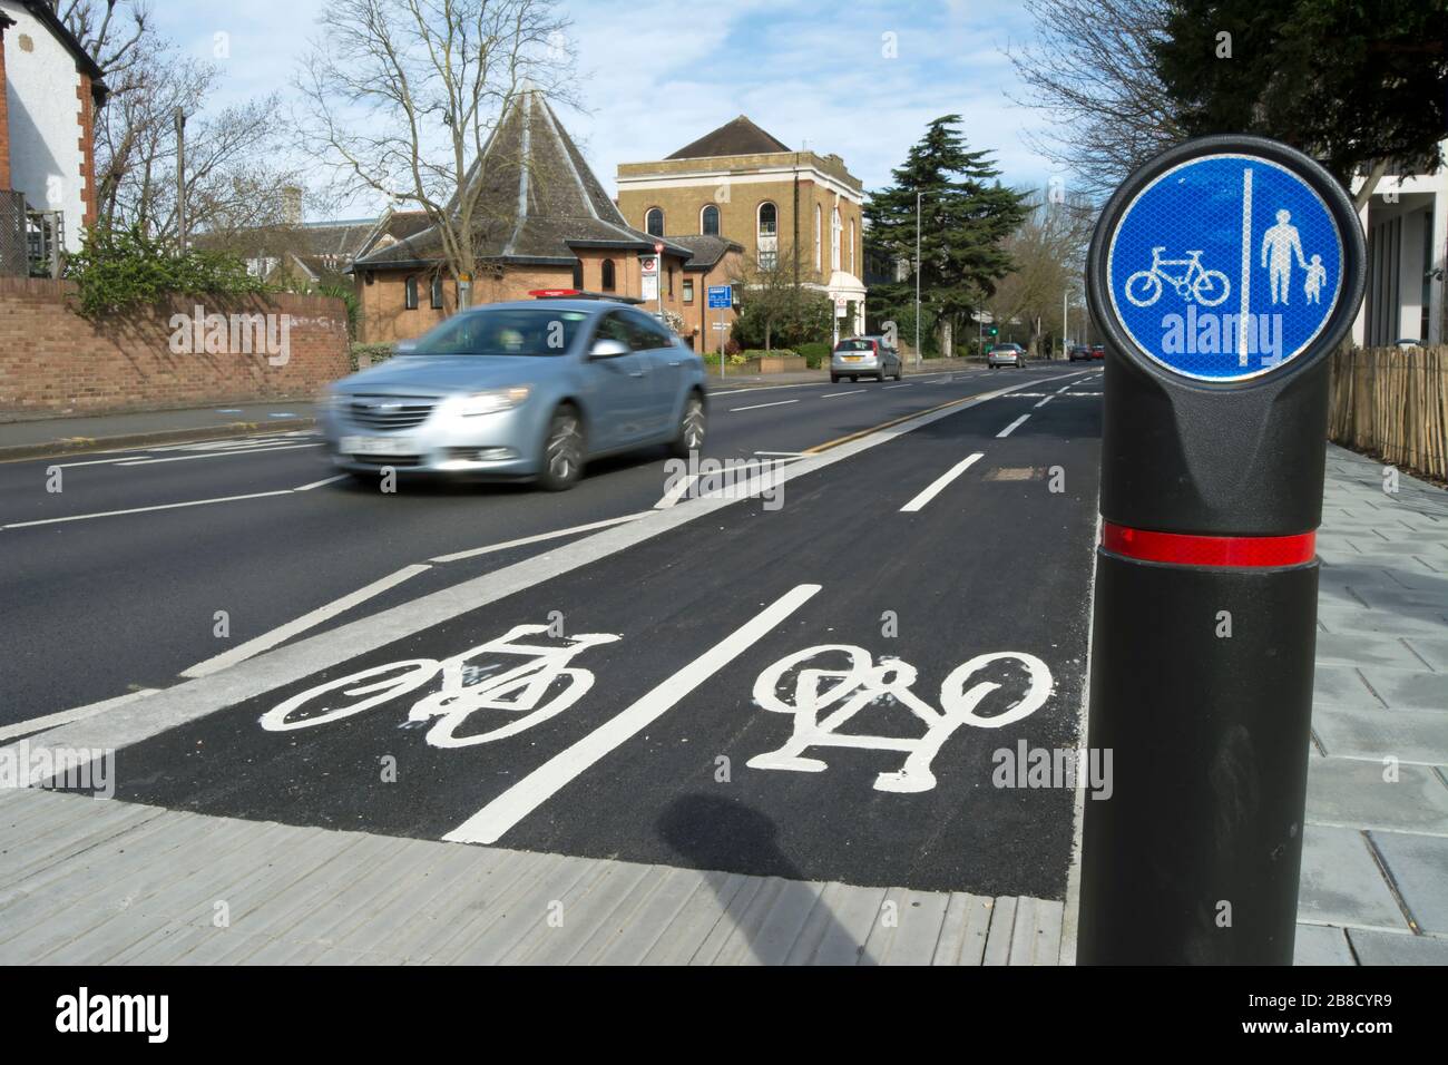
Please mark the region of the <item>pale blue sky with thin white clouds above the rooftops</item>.
MULTIPOLYGON (((326 0, 153 0, 159 32, 217 62, 211 106, 279 91, 326 0), (224 35, 219 38, 217 35, 224 35), (217 43, 224 58, 217 58, 217 43)), ((866 190, 891 181, 925 125, 963 116, 1011 185, 1057 171, 1024 130, 1045 125, 1005 49, 1032 36, 1018 0, 563 0, 584 110, 559 117, 610 193, 620 162, 660 159, 738 114, 791 148, 835 152, 866 190)), ((375 213, 356 203, 348 213, 375 213)), ((308 219, 317 220, 317 219, 308 219)))

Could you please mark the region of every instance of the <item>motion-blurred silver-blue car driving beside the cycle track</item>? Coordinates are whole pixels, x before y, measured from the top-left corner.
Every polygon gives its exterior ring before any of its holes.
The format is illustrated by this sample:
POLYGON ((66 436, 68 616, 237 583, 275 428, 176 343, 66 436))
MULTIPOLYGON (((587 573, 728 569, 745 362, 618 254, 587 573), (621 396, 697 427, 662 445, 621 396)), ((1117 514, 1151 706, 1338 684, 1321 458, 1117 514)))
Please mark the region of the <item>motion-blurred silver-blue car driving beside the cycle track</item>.
POLYGON ((527 478, 559 491, 592 458, 698 451, 704 361, 620 303, 494 303, 337 381, 321 406, 332 461, 349 472, 527 478))

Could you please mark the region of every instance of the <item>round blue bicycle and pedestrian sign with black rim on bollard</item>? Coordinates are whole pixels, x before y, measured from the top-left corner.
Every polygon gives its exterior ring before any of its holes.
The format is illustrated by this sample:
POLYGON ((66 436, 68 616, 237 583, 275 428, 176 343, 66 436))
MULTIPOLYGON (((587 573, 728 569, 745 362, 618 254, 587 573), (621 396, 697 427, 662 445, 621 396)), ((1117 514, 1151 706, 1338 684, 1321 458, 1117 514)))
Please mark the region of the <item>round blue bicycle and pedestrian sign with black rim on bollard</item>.
POLYGON ((1232 384, 1337 345, 1361 264, 1357 213, 1322 167, 1274 141, 1215 136, 1121 185, 1092 239, 1090 290, 1128 358, 1232 384))

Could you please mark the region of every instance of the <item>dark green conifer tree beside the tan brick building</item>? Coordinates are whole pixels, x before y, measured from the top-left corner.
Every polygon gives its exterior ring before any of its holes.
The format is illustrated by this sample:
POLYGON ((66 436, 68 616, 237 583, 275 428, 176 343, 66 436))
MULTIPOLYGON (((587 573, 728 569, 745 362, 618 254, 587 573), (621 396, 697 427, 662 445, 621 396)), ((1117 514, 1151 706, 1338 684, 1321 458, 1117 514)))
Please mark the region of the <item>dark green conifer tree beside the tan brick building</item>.
MULTIPOLYGON (((1024 197, 999 183, 989 152, 967 148, 960 122, 959 114, 931 122, 905 164, 891 171, 895 184, 872 193, 864 207, 870 251, 912 265, 904 280, 872 288, 873 313, 914 322, 915 194, 922 194, 921 317, 934 320, 937 343, 947 326, 960 336, 970 312, 1011 272, 1002 242, 1025 217, 1024 197)), ((902 330, 902 339, 914 336, 902 330)))

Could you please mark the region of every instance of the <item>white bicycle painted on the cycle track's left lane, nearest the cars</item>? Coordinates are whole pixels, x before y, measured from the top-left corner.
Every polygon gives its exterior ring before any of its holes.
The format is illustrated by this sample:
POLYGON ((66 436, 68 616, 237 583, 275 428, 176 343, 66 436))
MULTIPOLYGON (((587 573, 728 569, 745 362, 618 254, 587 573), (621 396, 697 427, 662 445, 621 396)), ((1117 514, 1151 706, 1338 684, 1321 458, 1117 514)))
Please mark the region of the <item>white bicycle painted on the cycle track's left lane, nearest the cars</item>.
POLYGON ((571 667, 569 662, 588 648, 618 639, 608 633, 581 633, 565 639, 563 646, 514 643, 520 636, 537 636, 547 630, 546 625, 517 625, 495 640, 479 643, 443 661, 411 658, 362 669, 292 696, 262 714, 261 724, 268 732, 292 732, 339 722, 417 691, 442 674, 442 690, 420 698, 407 714, 408 722, 437 719, 427 730, 429 743, 436 748, 463 748, 517 736, 582 698, 594 687, 594 674, 571 667), (489 675, 488 667, 494 664, 473 664, 473 659, 488 655, 521 655, 527 656, 527 661, 489 675), (362 698, 356 703, 332 706, 330 698, 323 700, 330 693, 340 693, 349 700, 362 698), (316 713, 294 717, 306 710, 316 713), (513 717, 488 732, 458 735, 468 717, 478 710, 502 710, 523 716, 513 717))

